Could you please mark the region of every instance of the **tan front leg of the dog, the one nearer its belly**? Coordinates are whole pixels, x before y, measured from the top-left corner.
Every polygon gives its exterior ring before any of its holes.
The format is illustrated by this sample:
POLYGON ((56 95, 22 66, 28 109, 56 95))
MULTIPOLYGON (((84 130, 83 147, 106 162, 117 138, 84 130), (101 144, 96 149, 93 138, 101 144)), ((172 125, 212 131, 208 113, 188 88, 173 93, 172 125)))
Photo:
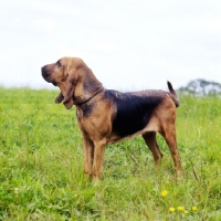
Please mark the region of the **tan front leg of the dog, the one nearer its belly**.
POLYGON ((93 161, 93 179, 94 180, 97 180, 101 178, 105 147, 106 147, 106 139, 97 140, 94 143, 94 161, 93 161))

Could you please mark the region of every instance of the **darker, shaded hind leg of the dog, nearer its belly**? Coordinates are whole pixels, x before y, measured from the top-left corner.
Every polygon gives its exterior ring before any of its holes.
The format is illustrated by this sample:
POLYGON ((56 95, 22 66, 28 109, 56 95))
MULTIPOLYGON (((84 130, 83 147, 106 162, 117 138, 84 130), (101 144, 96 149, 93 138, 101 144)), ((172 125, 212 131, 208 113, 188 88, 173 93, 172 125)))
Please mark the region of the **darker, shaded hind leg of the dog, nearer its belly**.
POLYGON ((159 149, 159 146, 157 144, 156 139, 156 131, 147 131, 141 135, 146 145, 149 147, 149 149, 152 152, 152 156, 155 158, 155 165, 157 166, 160 162, 160 159, 162 158, 162 152, 159 149))

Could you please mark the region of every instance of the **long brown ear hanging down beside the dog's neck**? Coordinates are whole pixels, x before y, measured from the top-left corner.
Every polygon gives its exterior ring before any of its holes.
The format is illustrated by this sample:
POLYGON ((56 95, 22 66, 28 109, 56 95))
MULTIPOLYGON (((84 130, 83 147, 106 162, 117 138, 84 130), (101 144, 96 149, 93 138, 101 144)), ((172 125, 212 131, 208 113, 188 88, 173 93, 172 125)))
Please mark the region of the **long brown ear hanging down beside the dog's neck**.
POLYGON ((76 84, 75 78, 72 75, 70 75, 67 78, 66 92, 63 101, 63 104, 67 109, 70 109, 74 105, 73 93, 75 84, 76 84))

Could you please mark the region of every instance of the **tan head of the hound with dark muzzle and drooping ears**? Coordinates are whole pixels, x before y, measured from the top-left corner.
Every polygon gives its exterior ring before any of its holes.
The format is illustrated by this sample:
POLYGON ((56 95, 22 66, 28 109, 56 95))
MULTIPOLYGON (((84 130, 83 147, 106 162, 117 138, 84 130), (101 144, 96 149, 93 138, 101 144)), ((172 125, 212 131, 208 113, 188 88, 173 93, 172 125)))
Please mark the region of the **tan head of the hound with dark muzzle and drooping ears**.
POLYGON ((60 87, 61 93, 55 103, 63 102, 66 108, 82 104, 104 90, 92 70, 77 57, 63 57, 56 63, 43 66, 42 76, 46 82, 60 87))

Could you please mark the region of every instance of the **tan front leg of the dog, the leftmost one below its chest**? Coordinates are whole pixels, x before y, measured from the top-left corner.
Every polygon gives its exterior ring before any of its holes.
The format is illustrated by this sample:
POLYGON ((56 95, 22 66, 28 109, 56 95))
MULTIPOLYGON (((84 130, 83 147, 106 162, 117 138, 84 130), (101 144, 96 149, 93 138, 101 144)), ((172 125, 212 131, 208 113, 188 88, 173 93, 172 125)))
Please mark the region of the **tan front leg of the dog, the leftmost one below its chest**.
POLYGON ((83 133, 83 148, 84 148, 84 173, 91 176, 93 172, 94 144, 83 133))

